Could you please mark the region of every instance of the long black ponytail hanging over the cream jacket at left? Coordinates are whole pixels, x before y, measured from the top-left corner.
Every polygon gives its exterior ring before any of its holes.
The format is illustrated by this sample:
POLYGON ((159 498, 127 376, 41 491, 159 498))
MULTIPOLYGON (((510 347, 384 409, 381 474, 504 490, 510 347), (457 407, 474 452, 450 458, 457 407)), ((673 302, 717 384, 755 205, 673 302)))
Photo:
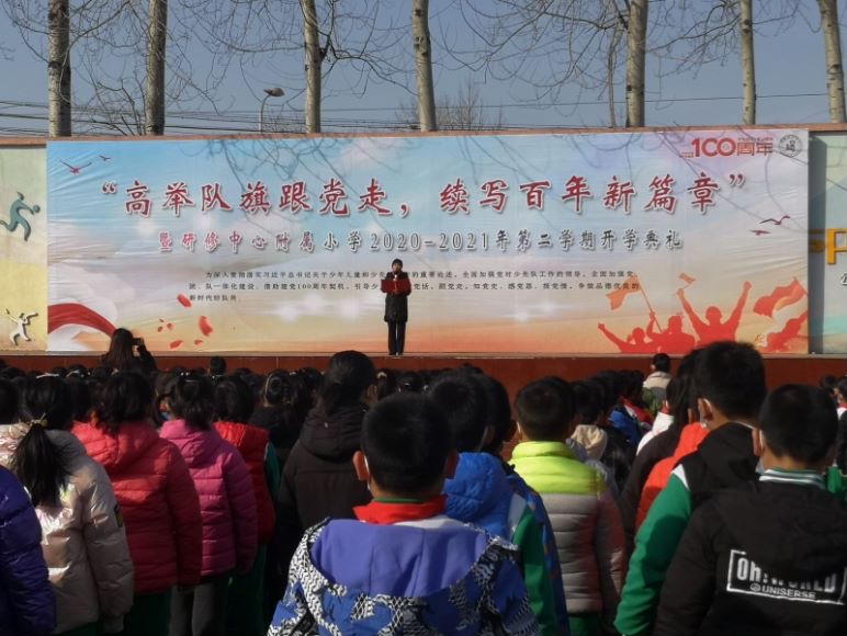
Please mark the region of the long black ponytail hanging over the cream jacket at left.
POLYGON ((29 490, 33 506, 59 504, 59 493, 70 470, 65 453, 47 436, 43 421, 35 421, 12 455, 12 473, 29 490))

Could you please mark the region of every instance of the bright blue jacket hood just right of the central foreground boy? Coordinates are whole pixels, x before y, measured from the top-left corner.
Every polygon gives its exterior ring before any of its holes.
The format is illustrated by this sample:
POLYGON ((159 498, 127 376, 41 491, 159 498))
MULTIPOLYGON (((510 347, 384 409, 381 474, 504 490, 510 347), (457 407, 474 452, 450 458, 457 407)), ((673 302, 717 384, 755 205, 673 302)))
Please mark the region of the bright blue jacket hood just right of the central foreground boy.
POLYGON ((462 453, 455 477, 444 481, 447 513, 508 537, 512 490, 500 461, 488 453, 462 453))

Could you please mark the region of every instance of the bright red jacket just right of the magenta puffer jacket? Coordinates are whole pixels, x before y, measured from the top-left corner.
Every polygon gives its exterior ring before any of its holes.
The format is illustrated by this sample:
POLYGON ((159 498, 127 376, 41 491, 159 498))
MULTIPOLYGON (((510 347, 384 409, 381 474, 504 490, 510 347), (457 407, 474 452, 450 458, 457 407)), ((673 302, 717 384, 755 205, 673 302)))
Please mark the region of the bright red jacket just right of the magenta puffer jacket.
MULTIPOLYGON (((256 493, 256 511, 259 523, 259 545, 270 543, 276 523, 276 514, 273 511, 271 491, 264 478, 264 457, 268 452, 270 438, 268 431, 249 424, 238 422, 215 422, 215 429, 227 442, 233 444, 241 453, 247 469, 250 472, 250 480, 256 493)), ((276 461, 275 454, 273 461, 276 461)))

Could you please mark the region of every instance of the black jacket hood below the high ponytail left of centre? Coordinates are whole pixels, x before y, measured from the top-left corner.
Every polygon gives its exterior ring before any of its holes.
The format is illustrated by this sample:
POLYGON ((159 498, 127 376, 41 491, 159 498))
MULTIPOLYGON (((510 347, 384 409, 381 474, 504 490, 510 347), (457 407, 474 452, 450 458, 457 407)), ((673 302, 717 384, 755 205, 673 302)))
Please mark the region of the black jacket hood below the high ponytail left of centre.
POLYGON ((349 459, 361 447, 362 420, 366 412, 363 404, 342 407, 331 416, 312 409, 300 433, 300 443, 321 459, 349 459))

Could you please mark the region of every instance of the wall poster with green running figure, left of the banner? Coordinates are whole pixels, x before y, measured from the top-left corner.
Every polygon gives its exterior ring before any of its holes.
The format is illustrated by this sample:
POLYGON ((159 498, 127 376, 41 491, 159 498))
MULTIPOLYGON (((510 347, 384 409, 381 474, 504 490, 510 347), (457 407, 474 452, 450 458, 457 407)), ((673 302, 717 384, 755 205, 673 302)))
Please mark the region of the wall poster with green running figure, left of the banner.
POLYGON ((0 146, 0 351, 47 348, 44 146, 0 146))

